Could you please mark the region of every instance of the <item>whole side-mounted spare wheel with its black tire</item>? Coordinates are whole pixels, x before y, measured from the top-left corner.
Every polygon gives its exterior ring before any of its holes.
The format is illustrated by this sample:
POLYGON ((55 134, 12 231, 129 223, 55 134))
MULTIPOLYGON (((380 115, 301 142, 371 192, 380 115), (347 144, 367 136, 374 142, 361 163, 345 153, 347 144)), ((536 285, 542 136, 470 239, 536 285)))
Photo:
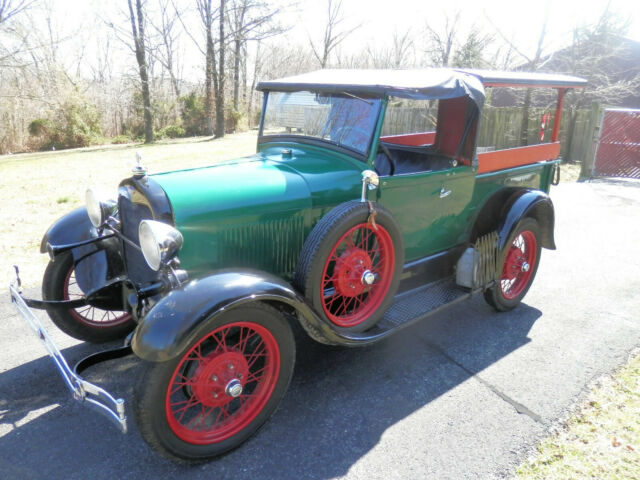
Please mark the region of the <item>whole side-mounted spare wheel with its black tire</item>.
POLYGON ((316 312, 330 322, 336 331, 362 332, 378 323, 391 304, 400 283, 400 273, 404 265, 404 246, 400 227, 391 212, 382 205, 374 204, 374 208, 377 212, 375 224, 379 227, 378 229, 374 229, 368 223, 370 215, 368 203, 354 200, 338 205, 316 224, 300 253, 294 274, 294 284, 304 292, 316 312), (365 237, 365 233, 358 233, 353 229, 366 230, 368 236, 365 237), (346 242, 344 236, 352 230, 356 242, 358 238, 366 238, 366 242, 369 243, 346 247, 338 257, 341 245, 346 242), (373 240, 370 240, 371 238, 373 240), (359 270, 355 268, 349 270, 347 264, 352 262, 352 256, 347 253, 347 250, 350 248, 353 248, 353 258, 359 255, 359 260, 356 260, 360 264, 363 264, 363 261, 366 264, 365 271, 375 273, 375 283, 365 284, 364 277, 361 281, 356 278, 359 270), (358 249, 366 255, 356 252, 358 249), (372 254, 374 251, 378 253, 372 254), (387 262, 390 265, 389 268, 386 266, 379 268, 385 265, 381 258, 389 259, 387 262), (393 260, 392 265, 390 260, 393 260), (345 263, 336 273, 341 261, 345 263), (353 274, 354 283, 345 286, 344 282, 337 281, 338 277, 344 277, 340 272, 353 274), (329 288, 328 285, 332 287, 329 288), (347 291, 349 288, 353 289, 347 291), (331 291, 333 293, 327 297, 327 292, 331 291), (342 307, 335 307, 339 302, 346 302, 343 311, 340 310, 342 307))

